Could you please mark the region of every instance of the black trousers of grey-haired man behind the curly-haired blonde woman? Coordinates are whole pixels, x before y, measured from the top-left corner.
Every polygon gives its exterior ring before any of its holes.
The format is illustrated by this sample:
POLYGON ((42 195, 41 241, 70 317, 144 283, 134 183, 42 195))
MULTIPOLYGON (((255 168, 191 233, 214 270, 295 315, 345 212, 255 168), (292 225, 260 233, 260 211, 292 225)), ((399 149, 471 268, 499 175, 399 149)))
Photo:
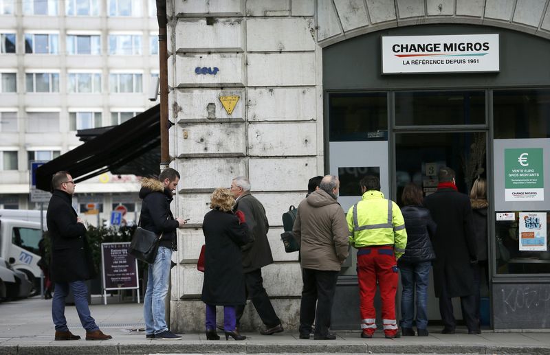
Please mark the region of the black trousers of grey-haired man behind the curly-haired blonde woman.
MULTIPOLYGON (((267 328, 273 328, 274 326, 281 323, 281 319, 277 317, 275 310, 270 301, 270 297, 265 292, 263 288, 263 279, 262 279, 262 270, 250 271, 250 273, 245 273, 245 284, 246 284, 246 297, 252 300, 256 312, 260 316, 261 320, 267 328)), ((241 304, 235 307, 236 311, 236 324, 239 325, 241 317, 245 312, 245 305, 241 304)))

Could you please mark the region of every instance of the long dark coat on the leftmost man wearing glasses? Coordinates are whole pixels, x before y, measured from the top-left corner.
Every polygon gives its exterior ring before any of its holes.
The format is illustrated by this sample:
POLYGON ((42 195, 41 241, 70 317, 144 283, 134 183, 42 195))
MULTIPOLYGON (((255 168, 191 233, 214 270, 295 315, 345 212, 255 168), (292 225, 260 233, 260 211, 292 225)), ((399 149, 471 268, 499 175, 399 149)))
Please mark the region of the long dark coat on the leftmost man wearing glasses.
POLYGON ((71 195, 54 190, 47 206, 46 224, 52 238, 52 281, 84 281, 96 277, 94 261, 86 239, 86 227, 76 222, 71 195))

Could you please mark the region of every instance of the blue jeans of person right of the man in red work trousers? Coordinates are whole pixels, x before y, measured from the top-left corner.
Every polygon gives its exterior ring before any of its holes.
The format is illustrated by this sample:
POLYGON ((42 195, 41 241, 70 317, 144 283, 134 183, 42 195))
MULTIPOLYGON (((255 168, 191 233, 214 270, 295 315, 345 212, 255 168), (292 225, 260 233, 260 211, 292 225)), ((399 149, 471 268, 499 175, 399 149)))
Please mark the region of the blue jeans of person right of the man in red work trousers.
POLYGON ((431 262, 399 263, 401 270, 401 328, 412 328, 415 318, 415 288, 417 305, 417 328, 428 327, 428 283, 431 262))

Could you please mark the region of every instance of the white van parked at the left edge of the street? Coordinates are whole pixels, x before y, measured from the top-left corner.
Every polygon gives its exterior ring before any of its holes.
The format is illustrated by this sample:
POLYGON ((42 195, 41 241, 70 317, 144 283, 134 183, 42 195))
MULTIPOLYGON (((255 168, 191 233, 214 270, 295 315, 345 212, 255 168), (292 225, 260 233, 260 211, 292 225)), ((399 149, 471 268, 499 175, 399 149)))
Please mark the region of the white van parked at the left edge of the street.
POLYGON ((40 222, 0 218, 0 257, 27 274, 34 290, 40 290, 42 271, 36 263, 40 260, 42 234, 40 222))

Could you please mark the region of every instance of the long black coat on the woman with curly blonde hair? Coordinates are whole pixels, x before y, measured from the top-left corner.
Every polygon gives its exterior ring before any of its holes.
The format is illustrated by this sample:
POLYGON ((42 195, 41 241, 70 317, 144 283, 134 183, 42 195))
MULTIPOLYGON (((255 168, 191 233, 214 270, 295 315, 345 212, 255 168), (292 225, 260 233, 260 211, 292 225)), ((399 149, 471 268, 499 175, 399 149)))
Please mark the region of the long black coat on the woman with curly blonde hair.
POLYGON ((212 209, 204 216, 202 231, 206 244, 202 301, 212 306, 245 304, 240 246, 250 239, 248 226, 239 225, 239 219, 232 212, 212 209))

